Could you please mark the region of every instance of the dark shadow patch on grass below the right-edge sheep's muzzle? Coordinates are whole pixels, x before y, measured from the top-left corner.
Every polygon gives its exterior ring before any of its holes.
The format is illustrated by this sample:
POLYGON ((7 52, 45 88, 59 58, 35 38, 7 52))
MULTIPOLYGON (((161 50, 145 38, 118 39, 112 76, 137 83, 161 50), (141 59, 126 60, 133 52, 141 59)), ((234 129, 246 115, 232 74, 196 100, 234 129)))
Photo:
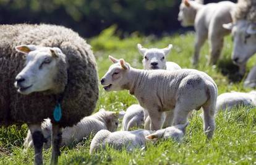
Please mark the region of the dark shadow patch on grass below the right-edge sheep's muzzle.
POLYGON ((233 64, 230 59, 221 59, 217 64, 221 74, 228 77, 230 82, 240 82, 243 75, 239 74, 239 67, 233 64))

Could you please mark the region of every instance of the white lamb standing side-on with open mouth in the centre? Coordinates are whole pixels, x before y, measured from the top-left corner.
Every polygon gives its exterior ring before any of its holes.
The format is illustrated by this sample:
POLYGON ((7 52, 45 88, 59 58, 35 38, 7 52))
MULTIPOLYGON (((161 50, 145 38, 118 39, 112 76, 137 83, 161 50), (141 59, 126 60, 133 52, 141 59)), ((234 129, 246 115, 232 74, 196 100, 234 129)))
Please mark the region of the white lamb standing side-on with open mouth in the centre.
POLYGON ((106 91, 129 90, 150 116, 150 129, 161 127, 161 114, 171 111, 173 125, 185 124, 190 111, 203 108, 204 130, 208 138, 215 130, 218 89, 211 77, 194 69, 134 69, 124 59, 114 59, 101 78, 106 91))

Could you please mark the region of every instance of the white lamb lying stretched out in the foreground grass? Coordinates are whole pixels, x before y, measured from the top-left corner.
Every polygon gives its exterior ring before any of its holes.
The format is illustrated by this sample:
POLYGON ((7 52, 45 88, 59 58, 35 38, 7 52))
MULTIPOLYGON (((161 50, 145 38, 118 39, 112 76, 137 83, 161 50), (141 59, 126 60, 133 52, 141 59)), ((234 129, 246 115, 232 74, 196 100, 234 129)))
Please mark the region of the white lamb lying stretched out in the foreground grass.
POLYGON ((106 146, 111 146, 116 150, 133 151, 135 148, 143 148, 147 140, 158 140, 173 138, 177 142, 181 142, 184 137, 187 123, 182 125, 174 125, 166 129, 158 130, 134 130, 134 131, 117 131, 109 132, 108 130, 100 130, 96 133, 90 145, 90 154, 105 150, 106 146))

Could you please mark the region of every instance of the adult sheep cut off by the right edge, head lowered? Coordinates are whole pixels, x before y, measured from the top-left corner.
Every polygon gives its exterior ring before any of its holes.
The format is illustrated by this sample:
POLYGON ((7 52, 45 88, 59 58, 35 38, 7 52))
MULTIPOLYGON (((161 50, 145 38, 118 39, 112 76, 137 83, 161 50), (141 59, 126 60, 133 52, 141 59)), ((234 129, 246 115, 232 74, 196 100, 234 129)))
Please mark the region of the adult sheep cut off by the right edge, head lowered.
POLYGON ((232 59, 244 74, 248 59, 256 53, 256 1, 239 0, 233 11, 233 23, 223 27, 232 30, 232 59))

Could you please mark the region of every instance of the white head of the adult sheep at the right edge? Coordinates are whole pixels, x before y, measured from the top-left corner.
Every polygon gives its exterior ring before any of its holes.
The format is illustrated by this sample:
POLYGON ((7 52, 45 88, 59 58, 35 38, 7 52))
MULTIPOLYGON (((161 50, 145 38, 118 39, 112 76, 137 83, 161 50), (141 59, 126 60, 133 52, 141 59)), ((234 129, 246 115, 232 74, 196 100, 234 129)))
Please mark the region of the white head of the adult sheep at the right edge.
MULTIPOLYGON (((248 59, 256 53, 256 24, 247 20, 238 20, 235 24, 228 23, 223 27, 232 30, 234 64, 245 69, 248 59)), ((245 70, 240 70, 240 72, 243 74, 245 70)))

